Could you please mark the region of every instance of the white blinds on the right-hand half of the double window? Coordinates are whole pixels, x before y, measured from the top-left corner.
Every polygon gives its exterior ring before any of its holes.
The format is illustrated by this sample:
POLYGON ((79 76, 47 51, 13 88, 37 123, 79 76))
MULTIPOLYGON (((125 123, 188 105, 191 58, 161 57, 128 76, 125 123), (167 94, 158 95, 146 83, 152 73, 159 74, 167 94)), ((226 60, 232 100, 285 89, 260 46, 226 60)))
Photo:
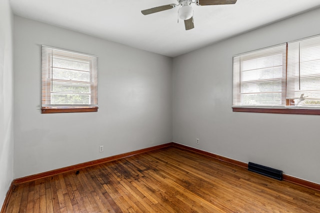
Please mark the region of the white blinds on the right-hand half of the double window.
POLYGON ((289 42, 287 55, 286 99, 320 106, 320 37, 289 42))

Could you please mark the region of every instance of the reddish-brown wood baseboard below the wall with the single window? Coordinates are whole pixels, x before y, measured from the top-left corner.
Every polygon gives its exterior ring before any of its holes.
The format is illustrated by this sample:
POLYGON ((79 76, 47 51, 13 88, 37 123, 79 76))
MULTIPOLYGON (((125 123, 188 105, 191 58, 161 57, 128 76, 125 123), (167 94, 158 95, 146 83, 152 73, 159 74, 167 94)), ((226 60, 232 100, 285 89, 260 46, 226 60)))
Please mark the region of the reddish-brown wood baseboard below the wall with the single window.
POLYGON ((30 175, 30 176, 26 176, 26 177, 22 177, 22 178, 17 178, 15 180, 13 180, 13 186, 14 185, 18 185, 18 184, 23 184, 26 182, 30 182, 30 181, 34 181, 37 179, 41 179, 41 178, 47 178, 53 175, 58 175, 58 174, 62 174, 62 173, 66 173, 66 172, 70 172, 70 171, 74 171, 74 170, 79 170, 79 169, 83 169, 85 167, 90 167, 90 166, 94 166, 94 165, 98 165, 98 164, 103 164, 106 162, 110 162, 110 161, 115 161, 121 158, 126 158, 129 156, 133 156, 133 155, 138 155, 141 153, 145 153, 145 152, 150 152, 153 150, 157 150, 157 149, 162 149, 165 147, 169 147, 172 146, 172 142, 170 143, 166 143, 166 144, 161 144, 161 145, 157 145, 157 146, 153 146, 153 147, 149 147, 149 148, 145 148, 145 149, 140 149, 140 150, 136 150, 136 151, 132 151, 132 152, 127 152, 127 153, 123 153, 123 154, 119 154, 119 155, 114 155, 114 156, 110 156, 110 157, 106 157, 106 158, 101 158, 98 160, 94 160, 94 161, 89 161, 89 162, 85 162, 85 163, 81 163, 81 164, 76 164, 76 165, 72 165, 72 166, 68 166, 68 167, 63 167, 60 169, 56 169, 56 170, 51 170, 48 172, 43 172, 43 173, 39 173, 39 174, 35 174, 35 175, 30 175))

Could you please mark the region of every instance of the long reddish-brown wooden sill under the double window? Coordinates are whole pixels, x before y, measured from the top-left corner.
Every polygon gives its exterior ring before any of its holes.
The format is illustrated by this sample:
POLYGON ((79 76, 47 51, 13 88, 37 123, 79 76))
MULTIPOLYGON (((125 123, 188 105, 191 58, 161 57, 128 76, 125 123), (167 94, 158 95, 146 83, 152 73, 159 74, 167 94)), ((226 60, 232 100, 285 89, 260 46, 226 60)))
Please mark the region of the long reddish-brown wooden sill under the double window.
POLYGON ((265 108, 241 108, 233 107, 233 112, 256 112, 276 114, 320 115, 320 109, 265 109, 265 108))

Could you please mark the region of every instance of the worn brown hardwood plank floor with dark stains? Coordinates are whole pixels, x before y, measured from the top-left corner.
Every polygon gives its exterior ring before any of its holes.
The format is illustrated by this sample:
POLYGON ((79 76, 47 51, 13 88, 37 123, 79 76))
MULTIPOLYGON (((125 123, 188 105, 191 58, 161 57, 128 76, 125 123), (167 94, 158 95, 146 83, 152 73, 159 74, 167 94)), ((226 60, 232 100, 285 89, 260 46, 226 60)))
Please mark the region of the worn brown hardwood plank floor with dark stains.
POLYGON ((167 147, 14 186, 18 212, 319 213, 320 192, 167 147))

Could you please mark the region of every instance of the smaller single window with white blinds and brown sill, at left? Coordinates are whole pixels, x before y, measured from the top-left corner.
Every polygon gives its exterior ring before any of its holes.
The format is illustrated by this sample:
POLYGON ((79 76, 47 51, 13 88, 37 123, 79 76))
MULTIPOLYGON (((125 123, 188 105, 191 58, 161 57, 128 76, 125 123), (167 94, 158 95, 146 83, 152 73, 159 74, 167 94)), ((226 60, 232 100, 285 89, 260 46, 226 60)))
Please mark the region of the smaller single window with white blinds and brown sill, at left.
POLYGON ((42 45, 41 113, 97 111, 97 57, 42 45))

